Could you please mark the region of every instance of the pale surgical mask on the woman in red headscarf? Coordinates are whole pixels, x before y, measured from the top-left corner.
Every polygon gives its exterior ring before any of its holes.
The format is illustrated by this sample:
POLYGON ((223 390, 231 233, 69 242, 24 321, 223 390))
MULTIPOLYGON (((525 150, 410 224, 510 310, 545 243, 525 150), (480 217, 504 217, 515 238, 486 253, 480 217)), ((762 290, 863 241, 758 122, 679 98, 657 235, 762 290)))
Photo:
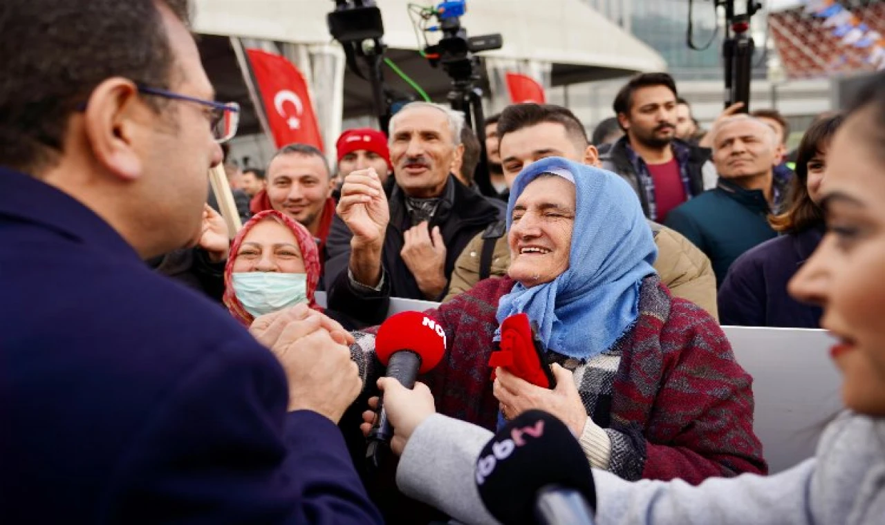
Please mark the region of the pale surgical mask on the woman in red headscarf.
POLYGON ((238 271, 232 274, 234 293, 253 317, 307 302, 307 274, 238 271))

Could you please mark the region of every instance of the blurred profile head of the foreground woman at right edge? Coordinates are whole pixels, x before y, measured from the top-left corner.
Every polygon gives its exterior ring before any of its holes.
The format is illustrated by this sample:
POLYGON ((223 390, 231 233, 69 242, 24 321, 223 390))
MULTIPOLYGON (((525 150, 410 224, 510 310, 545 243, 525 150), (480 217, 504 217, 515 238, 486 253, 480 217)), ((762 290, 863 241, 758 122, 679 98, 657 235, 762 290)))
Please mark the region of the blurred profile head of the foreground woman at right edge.
POLYGON ((831 354, 843 372, 845 405, 885 416, 885 156, 874 120, 880 111, 855 112, 835 134, 821 187, 827 235, 789 292, 824 308, 821 326, 838 339, 831 354))

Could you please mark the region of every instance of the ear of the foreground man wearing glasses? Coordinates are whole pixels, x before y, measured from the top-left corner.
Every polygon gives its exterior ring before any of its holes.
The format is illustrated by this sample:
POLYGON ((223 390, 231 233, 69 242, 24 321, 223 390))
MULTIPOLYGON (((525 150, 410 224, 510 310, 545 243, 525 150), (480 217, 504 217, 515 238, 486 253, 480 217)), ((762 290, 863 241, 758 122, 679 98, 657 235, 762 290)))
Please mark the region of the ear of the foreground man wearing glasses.
POLYGON ((99 164, 120 179, 142 175, 142 159, 135 148, 140 126, 136 119, 146 109, 131 80, 104 80, 89 95, 83 118, 89 148, 99 164))

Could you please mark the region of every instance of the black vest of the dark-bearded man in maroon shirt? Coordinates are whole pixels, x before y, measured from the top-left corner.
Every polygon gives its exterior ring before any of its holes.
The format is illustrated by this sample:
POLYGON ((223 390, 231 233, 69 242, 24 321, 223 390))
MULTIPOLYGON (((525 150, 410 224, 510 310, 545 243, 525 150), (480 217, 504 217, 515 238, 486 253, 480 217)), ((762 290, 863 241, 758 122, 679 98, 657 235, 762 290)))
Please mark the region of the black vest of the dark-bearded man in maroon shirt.
MULTIPOLYGON (((627 180, 633 191, 639 195, 639 201, 643 204, 643 213, 645 217, 649 217, 649 202, 645 193, 642 191, 642 185, 639 183, 639 174, 636 173, 635 166, 630 162, 630 153, 627 151, 627 136, 621 137, 614 144, 604 144, 599 147, 599 161, 602 163, 604 170, 617 173, 623 179, 627 180)), ((704 164, 710 160, 711 152, 708 148, 700 148, 693 146, 685 141, 673 139, 673 151, 677 160, 685 158, 688 163, 689 174, 689 192, 691 196, 704 193, 704 164)))

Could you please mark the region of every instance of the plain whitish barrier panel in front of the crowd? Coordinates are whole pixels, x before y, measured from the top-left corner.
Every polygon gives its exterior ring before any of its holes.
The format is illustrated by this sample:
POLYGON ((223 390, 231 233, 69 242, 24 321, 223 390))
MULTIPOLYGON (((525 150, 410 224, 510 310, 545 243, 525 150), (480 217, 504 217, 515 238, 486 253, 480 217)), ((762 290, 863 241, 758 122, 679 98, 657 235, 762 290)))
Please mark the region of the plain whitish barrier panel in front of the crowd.
MULTIPOLYGON (((318 292, 317 302, 326 304, 318 292)), ((388 316, 436 308, 439 303, 391 299, 388 316)), ((814 455, 827 421, 842 407, 841 379, 822 330, 723 326, 737 361, 753 377, 754 430, 770 472, 780 472, 814 455)))

